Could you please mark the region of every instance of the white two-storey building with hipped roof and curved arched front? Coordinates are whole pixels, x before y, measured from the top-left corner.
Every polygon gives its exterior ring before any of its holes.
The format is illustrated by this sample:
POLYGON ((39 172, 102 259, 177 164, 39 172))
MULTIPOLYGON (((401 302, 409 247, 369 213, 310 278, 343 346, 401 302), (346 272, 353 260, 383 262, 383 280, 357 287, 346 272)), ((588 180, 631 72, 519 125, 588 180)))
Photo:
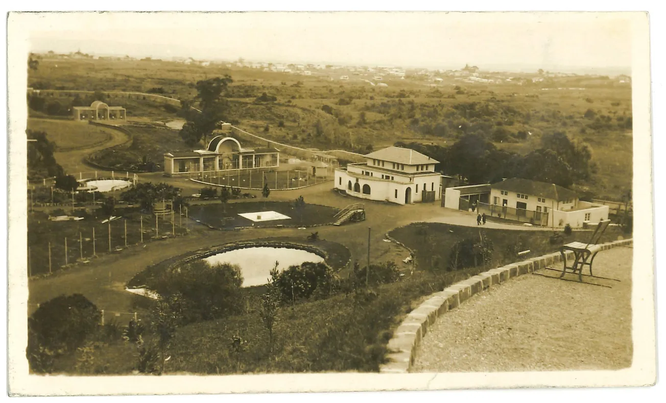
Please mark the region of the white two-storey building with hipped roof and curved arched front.
POLYGON ((388 147, 364 156, 366 162, 335 171, 335 188, 368 200, 412 204, 441 200, 439 161, 411 150, 388 147))

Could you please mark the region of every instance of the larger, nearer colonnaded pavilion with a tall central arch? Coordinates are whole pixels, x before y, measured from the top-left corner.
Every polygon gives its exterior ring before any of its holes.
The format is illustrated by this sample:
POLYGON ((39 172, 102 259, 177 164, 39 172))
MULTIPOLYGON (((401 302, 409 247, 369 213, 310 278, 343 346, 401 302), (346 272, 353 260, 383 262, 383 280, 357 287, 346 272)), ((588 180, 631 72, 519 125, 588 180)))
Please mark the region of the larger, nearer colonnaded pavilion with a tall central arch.
POLYGON ((165 154, 166 176, 277 168, 279 165, 280 150, 277 148, 243 148, 238 140, 226 135, 212 138, 205 150, 165 154))

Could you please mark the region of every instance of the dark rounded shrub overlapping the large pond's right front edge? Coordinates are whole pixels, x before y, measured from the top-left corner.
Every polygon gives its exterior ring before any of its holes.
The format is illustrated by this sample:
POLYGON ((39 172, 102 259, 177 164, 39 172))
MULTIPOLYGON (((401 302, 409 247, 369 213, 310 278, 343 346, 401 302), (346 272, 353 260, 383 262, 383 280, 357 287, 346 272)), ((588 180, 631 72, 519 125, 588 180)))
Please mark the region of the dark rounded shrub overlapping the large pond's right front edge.
POLYGON ((335 275, 326 263, 305 262, 274 273, 272 282, 285 301, 308 299, 317 291, 318 297, 334 291, 335 275))

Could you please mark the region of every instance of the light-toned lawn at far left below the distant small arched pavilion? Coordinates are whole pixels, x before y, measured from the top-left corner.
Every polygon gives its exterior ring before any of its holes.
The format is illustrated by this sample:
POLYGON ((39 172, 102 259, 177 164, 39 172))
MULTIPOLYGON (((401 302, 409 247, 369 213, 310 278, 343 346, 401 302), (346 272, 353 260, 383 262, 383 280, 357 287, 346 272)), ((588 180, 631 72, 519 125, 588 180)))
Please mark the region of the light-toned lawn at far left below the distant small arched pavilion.
POLYGON ((74 120, 29 118, 28 130, 46 132, 59 151, 87 148, 111 139, 111 129, 74 120))

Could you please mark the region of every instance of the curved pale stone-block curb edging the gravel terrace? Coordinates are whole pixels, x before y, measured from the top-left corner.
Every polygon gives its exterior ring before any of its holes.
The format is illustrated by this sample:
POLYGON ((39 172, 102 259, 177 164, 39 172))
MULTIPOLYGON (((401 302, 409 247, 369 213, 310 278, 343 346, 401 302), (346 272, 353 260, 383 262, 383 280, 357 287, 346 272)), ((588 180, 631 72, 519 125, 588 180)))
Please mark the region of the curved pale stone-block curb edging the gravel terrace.
MULTIPOLYGON (((632 243, 633 239, 602 243, 599 251, 627 246, 632 243)), ((565 255, 567 260, 573 258, 573 252, 565 252, 565 255)), ((479 273, 467 280, 446 287, 444 291, 430 295, 428 300, 407 315, 398 329, 394 331, 393 337, 388 340, 386 345, 388 362, 380 365, 379 372, 386 374, 408 373, 412 364, 414 364, 416 349, 437 318, 456 309, 461 303, 470 299, 472 295, 482 293, 492 285, 504 283, 513 277, 532 273, 561 261, 562 255, 559 252, 533 257, 526 261, 511 263, 479 273)))

